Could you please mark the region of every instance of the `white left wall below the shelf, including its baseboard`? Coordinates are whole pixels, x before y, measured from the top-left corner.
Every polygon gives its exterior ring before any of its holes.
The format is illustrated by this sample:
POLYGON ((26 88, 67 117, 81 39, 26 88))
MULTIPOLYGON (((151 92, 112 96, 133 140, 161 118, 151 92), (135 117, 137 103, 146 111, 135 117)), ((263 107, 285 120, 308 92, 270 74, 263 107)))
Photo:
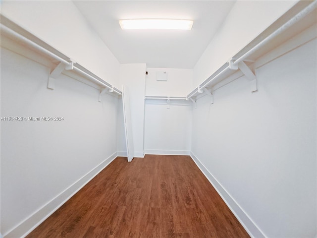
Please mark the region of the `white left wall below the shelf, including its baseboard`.
POLYGON ((20 237, 116 156, 117 97, 1 48, 1 234, 20 237))

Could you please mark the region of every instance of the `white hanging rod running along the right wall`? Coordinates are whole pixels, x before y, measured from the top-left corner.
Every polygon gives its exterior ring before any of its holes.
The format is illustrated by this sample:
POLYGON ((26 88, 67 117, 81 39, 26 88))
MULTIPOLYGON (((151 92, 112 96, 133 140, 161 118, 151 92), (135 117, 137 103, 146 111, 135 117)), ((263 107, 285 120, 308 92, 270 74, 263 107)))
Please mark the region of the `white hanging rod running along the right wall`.
POLYGON ((248 57, 250 57, 253 53, 255 53, 257 50, 262 48, 265 44, 267 44, 269 41, 271 41, 273 38, 284 32, 286 29, 303 19, 305 16, 307 16, 309 13, 311 13, 317 6, 317 1, 313 1, 308 6, 306 6, 303 10, 301 10, 299 13, 297 13, 295 16, 293 16, 290 20, 288 20, 286 23, 284 23, 282 26, 280 26, 277 30, 275 30, 273 33, 271 33, 269 36, 264 38, 260 43, 258 43, 255 47, 250 49, 248 52, 243 54, 240 58, 237 60, 234 60, 232 62, 231 66, 226 66, 224 69, 222 69, 219 73, 217 73, 215 76, 211 77, 206 83, 203 82, 201 85, 199 85, 197 88, 195 88, 190 94, 187 95, 186 98, 191 98, 195 96, 197 93, 202 92, 202 89, 206 88, 208 85, 211 84, 212 81, 215 81, 218 77, 220 77, 223 73, 229 71, 229 70, 235 70, 234 68, 238 67, 238 64, 243 61, 247 60, 248 57))

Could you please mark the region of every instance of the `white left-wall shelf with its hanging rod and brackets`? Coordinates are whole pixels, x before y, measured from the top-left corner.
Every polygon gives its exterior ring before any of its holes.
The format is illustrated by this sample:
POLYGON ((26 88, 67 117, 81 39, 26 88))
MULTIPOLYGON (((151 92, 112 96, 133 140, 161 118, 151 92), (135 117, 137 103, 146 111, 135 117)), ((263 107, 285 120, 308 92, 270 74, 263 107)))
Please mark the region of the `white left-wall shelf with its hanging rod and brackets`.
POLYGON ((64 73, 68 76, 77 74, 89 80, 92 84, 97 85, 97 87, 100 89, 99 101, 101 101, 101 95, 106 92, 122 95, 122 92, 119 89, 115 88, 110 83, 98 77, 84 66, 72 60, 70 57, 67 57, 35 35, 15 24, 5 16, 1 15, 0 21, 1 36, 7 37, 9 40, 13 40, 19 45, 27 46, 28 49, 31 49, 36 54, 45 56, 51 61, 53 64, 53 70, 48 77, 49 89, 55 88, 55 79, 61 73, 64 73))

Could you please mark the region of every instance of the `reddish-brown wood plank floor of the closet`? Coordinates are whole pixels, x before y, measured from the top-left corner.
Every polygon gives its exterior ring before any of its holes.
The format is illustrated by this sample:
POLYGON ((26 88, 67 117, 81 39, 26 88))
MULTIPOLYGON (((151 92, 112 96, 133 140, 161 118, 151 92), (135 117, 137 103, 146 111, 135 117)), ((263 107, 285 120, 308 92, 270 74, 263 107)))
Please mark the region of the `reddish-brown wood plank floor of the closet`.
POLYGON ((189 156, 118 157, 27 238, 246 238, 189 156))

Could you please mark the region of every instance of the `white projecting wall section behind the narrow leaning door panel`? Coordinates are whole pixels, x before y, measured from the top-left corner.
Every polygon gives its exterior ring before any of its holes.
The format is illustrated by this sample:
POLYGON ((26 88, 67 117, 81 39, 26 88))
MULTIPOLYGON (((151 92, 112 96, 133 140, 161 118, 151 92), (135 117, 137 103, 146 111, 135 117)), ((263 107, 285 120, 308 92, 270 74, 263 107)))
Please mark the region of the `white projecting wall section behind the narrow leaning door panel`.
MULTIPOLYGON (((120 84, 124 84, 128 87, 130 95, 132 133, 135 157, 144 157, 145 71, 145 63, 126 63, 120 65, 120 84)), ((120 109, 120 111, 118 112, 118 115, 120 117, 123 116, 122 112, 122 109, 120 109)), ((121 118, 120 120, 122 121, 123 119, 121 118)), ((122 126, 119 126, 119 128, 121 128, 119 132, 124 132, 124 130, 122 130, 122 126)), ((122 151, 124 149, 124 134, 120 134, 119 136, 120 137, 118 139, 118 149, 122 151)), ((126 151, 126 147, 124 151, 126 151)))

